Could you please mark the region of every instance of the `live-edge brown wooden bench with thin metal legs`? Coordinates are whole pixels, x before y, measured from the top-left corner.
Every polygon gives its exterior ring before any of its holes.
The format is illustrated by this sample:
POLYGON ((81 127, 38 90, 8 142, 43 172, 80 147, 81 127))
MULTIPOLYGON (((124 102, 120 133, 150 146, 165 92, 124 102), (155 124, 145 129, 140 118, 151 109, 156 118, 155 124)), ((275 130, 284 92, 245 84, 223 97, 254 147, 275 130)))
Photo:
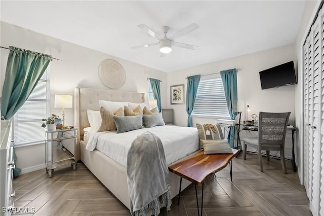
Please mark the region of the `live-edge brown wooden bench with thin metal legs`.
POLYGON ((180 188, 178 195, 178 205, 180 201, 182 178, 194 183, 196 190, 197 211, 199 216, 199 205, 197 196, 197 185, 201 185, 201 214, 203 215, 203 198, 204 198, 204 180, 207 176, 214 174, 227 166, 229 163, 229 172, 232 181, 232 158, 238 155, 239 150, 232 149, 233 154, 212 154, 204 155, 201 151, 189 158, 176 162, 169 166, 169 170, 180 176, 180 188))

